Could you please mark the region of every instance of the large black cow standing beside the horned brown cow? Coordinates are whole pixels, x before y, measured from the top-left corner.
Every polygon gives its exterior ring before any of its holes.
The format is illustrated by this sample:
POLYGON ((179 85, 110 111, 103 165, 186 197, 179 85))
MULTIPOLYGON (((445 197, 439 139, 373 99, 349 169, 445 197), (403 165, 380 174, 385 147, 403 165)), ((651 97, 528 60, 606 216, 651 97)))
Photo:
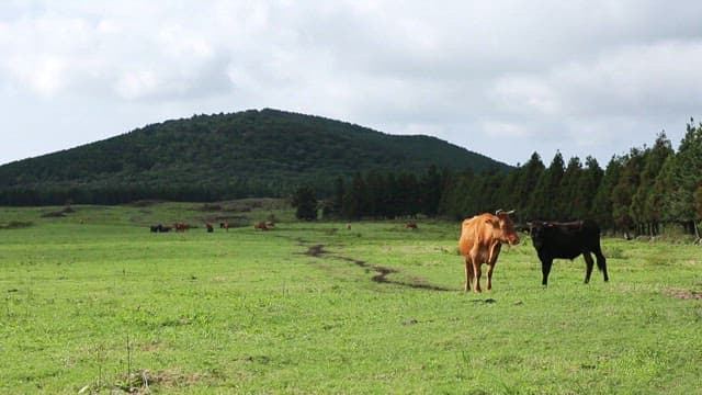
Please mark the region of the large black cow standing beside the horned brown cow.
POLYGON ((541 260, 541 272, 543 280, 541 284, 546 286, 551 264, 555 258, 575 259, 582 253, 587 263, 585 272, 585 283, 590 281, 592 274, 592 256, 597 258, 597 268, 604 274, 604 281, 609 281, 607 275, 607 259, 602 255, 600 247, 600 226, 590 219, 576 221, 570 223, 541 222, 534 221, 529 224, 534 248, 541 260))

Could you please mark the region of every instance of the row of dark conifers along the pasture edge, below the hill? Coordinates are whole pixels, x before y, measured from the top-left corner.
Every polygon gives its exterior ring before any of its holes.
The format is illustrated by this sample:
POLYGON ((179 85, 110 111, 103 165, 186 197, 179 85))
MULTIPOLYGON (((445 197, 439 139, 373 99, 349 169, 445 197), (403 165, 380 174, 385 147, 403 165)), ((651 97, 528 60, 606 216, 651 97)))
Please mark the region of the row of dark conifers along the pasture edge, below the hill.
MULTIPOLYGON (((356 173, 338 179, 333 195, 320 205, 327 217, 396 218, 426 215, 462 219, 497 208, 517 210, 518 223, 530 219, 592 218, 626 235, 659 235, 664 226, 682 227, 699 237, 702 219, 702 123, 690 120, 678 150, 665 132, 653 146, 613 156, 603 169, 597 159, 567 162, 556 153, 548 167, 539 154, 516 169, 476 173, 439 171, 356 173)), ((314 189, 297 190, 293 203, 301 218, 316 217, 301 202, 316 199, 314 189), (301 191, 305 192, 301 195, 301 191)), ((313 208, 310 208, 313 207, 313 208)))

